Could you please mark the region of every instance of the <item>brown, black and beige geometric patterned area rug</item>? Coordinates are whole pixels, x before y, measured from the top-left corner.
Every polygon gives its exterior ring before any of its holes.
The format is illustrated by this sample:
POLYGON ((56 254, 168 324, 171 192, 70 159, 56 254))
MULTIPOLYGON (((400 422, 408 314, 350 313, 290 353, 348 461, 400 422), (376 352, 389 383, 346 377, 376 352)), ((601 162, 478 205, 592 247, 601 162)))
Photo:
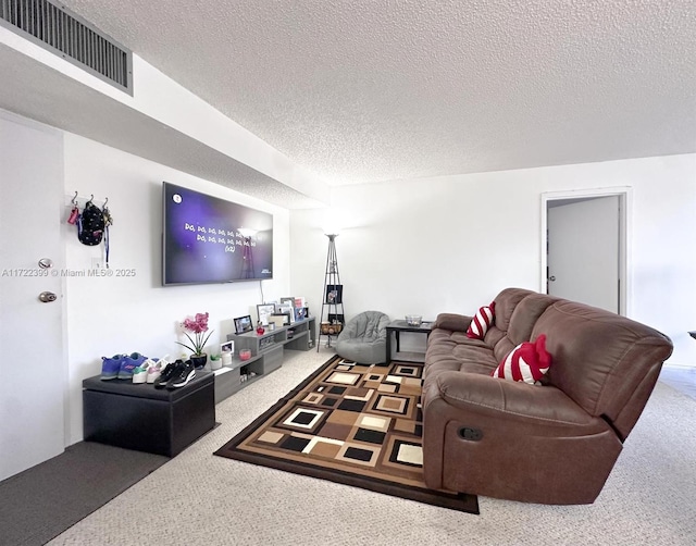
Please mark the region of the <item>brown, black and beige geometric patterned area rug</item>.
POLYGON ((422 373, 333 357, 214 455, 477 514, 423 482, 422 373))

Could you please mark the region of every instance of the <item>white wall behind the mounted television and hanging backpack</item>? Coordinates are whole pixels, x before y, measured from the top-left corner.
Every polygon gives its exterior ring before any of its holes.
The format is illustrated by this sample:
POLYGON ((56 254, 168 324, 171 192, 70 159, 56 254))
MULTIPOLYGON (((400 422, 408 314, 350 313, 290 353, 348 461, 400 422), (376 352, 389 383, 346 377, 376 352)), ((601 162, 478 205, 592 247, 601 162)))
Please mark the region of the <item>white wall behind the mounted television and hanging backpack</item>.
MULTIPOLYGON (((134 270, 133 277, 69 277, 67 355, 70 368, 70 438, 83 437, 82 380, 100 373, 101 357, 138 351, 150 357, 177 356, 177 324, 197 312, 210 313, 214 330, 209 347, 234 333, 235 317, 256 317, 262 301, 259 282, 223 285, 161 286, 162 182, 206 191, 273 214, 274 278, 263 281, 265 299, 290 294, 289 214, 232 189, 115 150, 73 134, 65 134, 65 194, 94 194, 96 202, 109 198, 114 219, 110 229, 110 264, 134 270)), ((234 181, 231 181, 234 182, 234 181)), ((69 212, 65 207, 65 215, 69 212)), ((91 269, 103 246, 87 247, 76 229, 61 226, 70 271, 91 269)))

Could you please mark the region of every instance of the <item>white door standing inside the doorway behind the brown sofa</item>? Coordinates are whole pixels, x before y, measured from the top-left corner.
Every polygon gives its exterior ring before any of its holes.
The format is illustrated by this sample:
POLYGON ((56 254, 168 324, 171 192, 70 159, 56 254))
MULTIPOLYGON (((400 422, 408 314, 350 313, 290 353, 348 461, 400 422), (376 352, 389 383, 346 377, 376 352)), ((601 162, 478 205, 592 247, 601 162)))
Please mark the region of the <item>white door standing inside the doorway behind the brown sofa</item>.
POLYGON ((548 294, 620 312, 620 200, 548 201, 548 294))

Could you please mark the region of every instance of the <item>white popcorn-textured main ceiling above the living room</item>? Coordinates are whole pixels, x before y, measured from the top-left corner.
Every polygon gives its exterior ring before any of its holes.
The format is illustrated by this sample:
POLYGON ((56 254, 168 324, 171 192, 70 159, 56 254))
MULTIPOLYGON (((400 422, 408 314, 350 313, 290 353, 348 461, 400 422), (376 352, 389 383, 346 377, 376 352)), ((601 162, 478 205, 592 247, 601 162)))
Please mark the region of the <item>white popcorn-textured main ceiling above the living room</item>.
POLYGON ((694 0, 62 3, 332 185, 696 151, 694 0))

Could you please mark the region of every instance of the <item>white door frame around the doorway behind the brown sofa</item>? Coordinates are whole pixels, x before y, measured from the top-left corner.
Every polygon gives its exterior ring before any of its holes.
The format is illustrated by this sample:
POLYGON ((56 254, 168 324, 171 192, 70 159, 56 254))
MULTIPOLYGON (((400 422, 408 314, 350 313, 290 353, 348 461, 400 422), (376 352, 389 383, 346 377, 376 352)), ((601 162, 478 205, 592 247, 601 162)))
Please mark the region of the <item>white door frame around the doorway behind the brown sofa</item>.
POLYGON ((619 314, 630 317, 633 308, 631 278, 632 265, 632 228, 633 225, 633 194, 630 186, 609 188, 569 189, 562 191, 544 191, 542 194, 542 231, 540 231, 540 269, 539 291, 547 294, 548 265, 548 202, 566 199, 588 199, 593 197, 619 197, 619 314))

